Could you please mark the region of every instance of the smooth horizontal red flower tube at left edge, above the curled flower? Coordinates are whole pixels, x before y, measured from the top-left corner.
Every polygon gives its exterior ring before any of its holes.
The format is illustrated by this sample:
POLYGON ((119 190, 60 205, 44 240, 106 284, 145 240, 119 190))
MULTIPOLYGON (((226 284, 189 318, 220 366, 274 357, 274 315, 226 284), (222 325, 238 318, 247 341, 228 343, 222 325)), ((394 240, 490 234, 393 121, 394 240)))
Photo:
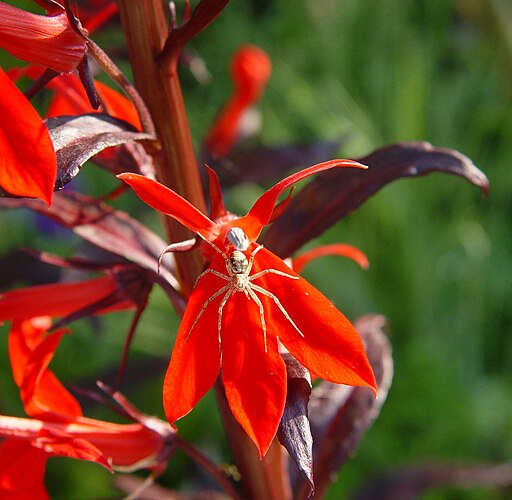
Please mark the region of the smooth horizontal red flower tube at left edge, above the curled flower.
MULTIPOLYGON (((0 321, 66 316, 116 291, 110 276, 74 283, 39 285, 0 294, 0 321)), ((122 306, 129 307, 122 303, 122 306)), ((104 312, 104 311, 103 311, 104 312)))

